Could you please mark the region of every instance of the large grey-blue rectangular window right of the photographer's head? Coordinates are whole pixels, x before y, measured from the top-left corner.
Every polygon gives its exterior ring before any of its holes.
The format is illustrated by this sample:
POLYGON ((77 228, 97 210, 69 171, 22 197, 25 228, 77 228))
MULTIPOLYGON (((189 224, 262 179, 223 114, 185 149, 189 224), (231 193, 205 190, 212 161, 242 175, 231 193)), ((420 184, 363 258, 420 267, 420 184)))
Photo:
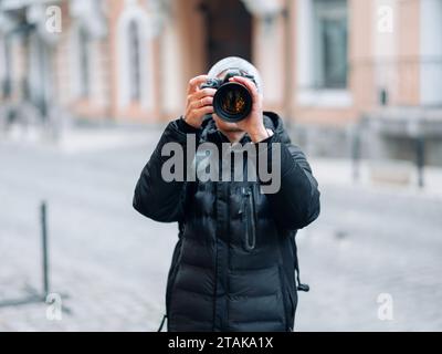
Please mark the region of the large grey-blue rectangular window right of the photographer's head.
POLYGON ((314 86, 346 88, 348 73, 347 0, 314 0, 314 86))

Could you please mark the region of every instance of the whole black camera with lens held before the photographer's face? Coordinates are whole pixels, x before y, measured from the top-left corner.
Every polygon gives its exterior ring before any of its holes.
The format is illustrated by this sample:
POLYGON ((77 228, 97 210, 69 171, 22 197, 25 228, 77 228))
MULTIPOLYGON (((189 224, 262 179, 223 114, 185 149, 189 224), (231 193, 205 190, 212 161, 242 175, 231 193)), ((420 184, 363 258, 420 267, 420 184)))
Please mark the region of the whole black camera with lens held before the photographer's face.
POLYGON ((242 76, 256 82, 252 75, 240 70, 229 70, 224 79, 209 79, 201 88, 214 88, 217 93, 213 96, 213 111, 223 121, 236 123, 244 119, 252 111, 253 100, 248 87, 238 83, 230 82, 229 79, 242 76))

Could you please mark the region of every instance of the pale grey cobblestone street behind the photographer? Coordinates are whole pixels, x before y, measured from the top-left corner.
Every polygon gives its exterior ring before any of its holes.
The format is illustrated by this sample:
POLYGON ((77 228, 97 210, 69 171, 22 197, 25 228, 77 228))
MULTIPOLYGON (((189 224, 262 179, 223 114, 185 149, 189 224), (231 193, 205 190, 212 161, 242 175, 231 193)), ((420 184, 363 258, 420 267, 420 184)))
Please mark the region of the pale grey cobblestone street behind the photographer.
MULTIPOLYGON (((177 226, 131 208, 157 133, 127 129, 102 148, 0 143, 0 302, 42 288, 41 200, 51 291, 66 295, 61 321, 46 304, 0 308, 0 331, 157 329, 177 226)), ((442 198, 318 179, 322 216, 298 235, 312 291, 299 294, 297 330, 441 331, 442 198), (378 319, 381 293, 392 321, 378 319)))

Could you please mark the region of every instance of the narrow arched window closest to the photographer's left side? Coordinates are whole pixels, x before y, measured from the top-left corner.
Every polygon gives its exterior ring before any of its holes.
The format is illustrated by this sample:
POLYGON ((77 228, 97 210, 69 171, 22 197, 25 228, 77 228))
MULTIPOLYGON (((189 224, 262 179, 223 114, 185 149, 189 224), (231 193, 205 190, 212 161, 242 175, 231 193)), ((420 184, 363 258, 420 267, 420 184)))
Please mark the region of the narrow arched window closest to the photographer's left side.
POLYGON ((139 31, 135 20, 128 25, 130 101, 138 102, 141 92, 139 31))

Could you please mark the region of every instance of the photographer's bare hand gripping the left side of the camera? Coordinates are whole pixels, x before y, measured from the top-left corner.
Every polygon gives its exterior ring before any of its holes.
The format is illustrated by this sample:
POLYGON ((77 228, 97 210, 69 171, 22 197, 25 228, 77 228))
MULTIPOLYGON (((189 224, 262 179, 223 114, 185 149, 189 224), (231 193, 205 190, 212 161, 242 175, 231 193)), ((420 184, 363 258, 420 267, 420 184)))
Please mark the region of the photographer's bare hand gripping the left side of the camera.
POLYGON ((200 75, 189 81, 187 88, 187 103, 185 121, 187 124, 199 128, 206 114, 213 113, 213 96, 217 92, 214 88, 200 88, 206 83, 208 75, 200 75))

